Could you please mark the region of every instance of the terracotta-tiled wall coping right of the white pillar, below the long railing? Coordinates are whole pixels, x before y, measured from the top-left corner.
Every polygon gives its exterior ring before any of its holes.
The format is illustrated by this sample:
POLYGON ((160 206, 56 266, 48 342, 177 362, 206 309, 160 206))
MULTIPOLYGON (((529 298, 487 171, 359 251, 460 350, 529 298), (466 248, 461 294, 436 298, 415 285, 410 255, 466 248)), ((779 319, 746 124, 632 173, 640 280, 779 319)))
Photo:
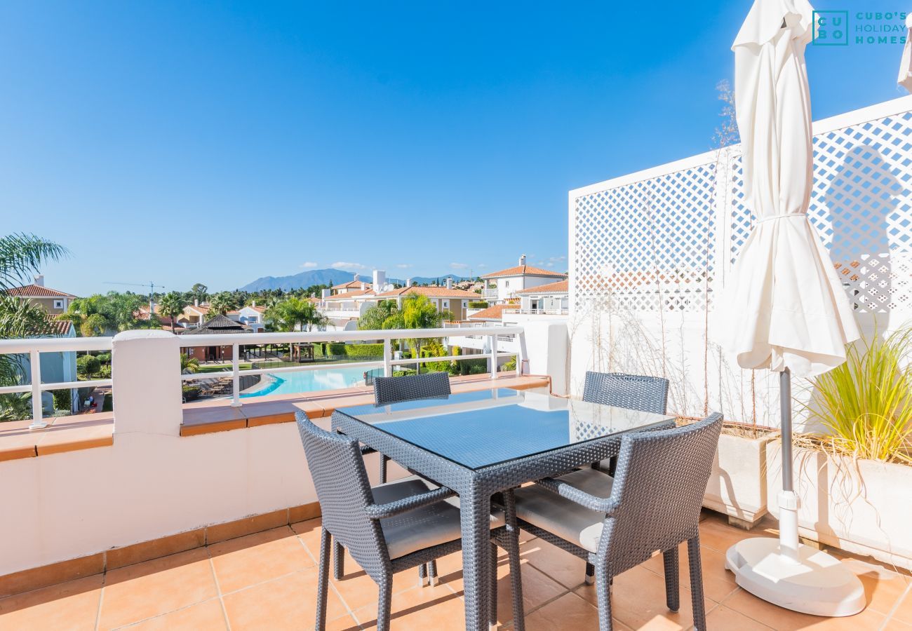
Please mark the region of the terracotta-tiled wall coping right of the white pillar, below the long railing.
MULTIPOLYGON (((453 392, 472 392, 492 388, 548 388, 550 379, 535 375, 504 375, 492 379, 491 375, 466 375, 451 378, 453 392)), ((223 399, 201 401, 184 406, 181 436, 196 436, 214 431, 253 428, 273 423, 290 423, 295 412, 304 410, 311 419, 332 416, 337 408, 373 403, 374 391, 367 386, 321 390, 306 394, 272 395, 258 397, 254 402, 244 402, 233 408, 223 399)))

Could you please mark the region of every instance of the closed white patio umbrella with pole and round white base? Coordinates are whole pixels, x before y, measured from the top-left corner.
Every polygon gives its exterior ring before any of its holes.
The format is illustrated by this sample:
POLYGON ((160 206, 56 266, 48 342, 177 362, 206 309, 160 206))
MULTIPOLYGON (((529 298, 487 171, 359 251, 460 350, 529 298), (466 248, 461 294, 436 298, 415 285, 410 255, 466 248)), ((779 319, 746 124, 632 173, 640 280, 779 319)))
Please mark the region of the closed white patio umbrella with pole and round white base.
POLYGON ((756 226, 717 303, 716 336, 744 368, 780 373, 780 538, 732 546, 726 565, 744 589, 815 615, 865 606, 861 582, 834 557, 798 543, 792 480, 791 374, 813 377, 845 361, 858 338, 851 305, 808 221, 813 182, 806 0, 754 0, 735 39, 735 110, 746 201, 756 226))

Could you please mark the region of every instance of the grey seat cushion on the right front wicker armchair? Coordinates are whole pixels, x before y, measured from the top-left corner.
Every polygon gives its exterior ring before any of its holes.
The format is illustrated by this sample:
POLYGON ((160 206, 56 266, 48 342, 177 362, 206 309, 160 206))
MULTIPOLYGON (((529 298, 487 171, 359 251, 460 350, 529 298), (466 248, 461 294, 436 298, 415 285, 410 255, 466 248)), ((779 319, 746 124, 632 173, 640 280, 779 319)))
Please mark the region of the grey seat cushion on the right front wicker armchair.
MULTIPOLYGON (((614 479, 607 473, 595 469, 573 471, 557 479, 602 498, 611 495, 611 485, 614 483, 614 479)), ((605 522, 604 512, 590 511, 538 485, 526 486, 514 493, 516 516, 523 522, 529 522, 584 550, 596 553, 605 522)))

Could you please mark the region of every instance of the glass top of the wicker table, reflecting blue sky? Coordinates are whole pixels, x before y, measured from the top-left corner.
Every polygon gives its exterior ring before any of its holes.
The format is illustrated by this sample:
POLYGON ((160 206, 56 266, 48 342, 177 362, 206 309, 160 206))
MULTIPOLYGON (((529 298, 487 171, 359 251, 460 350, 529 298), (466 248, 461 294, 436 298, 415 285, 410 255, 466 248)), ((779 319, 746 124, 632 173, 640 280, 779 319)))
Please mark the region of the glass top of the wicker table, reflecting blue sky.
POLYGON ((648 429, 674 419, 510 389, 337 411, 469 469, 648 429))

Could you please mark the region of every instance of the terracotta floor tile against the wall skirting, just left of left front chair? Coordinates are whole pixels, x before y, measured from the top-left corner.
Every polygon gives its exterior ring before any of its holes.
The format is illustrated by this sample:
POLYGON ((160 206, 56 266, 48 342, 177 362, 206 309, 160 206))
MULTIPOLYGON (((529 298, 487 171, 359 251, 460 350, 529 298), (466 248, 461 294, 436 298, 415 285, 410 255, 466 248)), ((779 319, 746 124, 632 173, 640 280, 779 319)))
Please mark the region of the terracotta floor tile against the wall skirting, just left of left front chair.
POLYGON ((215 543, 209 553, 223 594, 314 567, 288 526, 215 543))

